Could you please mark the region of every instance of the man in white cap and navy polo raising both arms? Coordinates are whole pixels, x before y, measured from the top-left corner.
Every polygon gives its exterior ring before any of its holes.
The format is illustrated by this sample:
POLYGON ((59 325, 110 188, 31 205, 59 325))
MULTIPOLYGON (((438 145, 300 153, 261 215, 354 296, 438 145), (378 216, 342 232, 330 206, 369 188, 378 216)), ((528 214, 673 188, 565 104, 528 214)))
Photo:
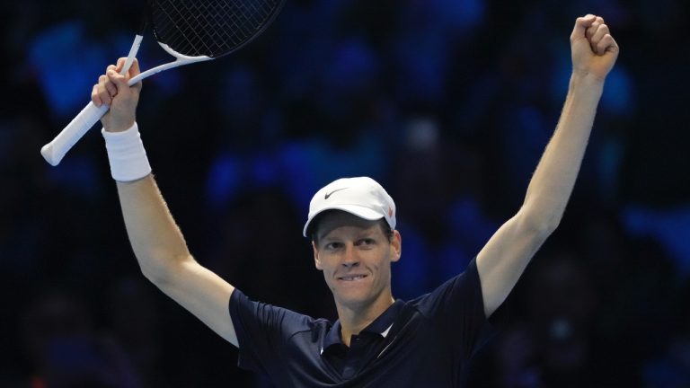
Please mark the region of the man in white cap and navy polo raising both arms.
POLYGON ((136 63, 125 76, 117 74, 123 58, 109 66, 92 98, 111 106, 103 136, 144 275, 239 347, 240 366, 277 386, 451 387, 462 384, 464 366, 486 338, 487 318, 560 223, 571 195, 618 46, 604 20, 587 15, 575 22, 571 54, 562 116, 522 207, 463 274, 429 295, 408 302, 392 295, 391 263, 401 257, 402 237, 394 201, 376 181, 334 181, 314 195, 304 234, 332 291, 337 322, 252 302, 192 258, 138 137, 141 84, 127 86, 136 63))

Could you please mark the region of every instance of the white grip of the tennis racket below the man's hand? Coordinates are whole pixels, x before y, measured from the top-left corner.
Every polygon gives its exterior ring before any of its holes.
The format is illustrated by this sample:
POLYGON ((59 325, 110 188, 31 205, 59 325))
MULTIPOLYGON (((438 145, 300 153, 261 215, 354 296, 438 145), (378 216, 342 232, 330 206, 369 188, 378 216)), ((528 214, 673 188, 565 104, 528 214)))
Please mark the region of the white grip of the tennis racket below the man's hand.
POLYGON ((92 102, 89 102, 82 111, 76 115, 75 119, 67 124, 67 126, 57 134, 49 144, 43 145, 40 149, 40 154, 50 165, 56 166, 65 154, 75 145, 80 138, 84 136, 89 129, 93 127, 99 119, 110 109, 109 106, 103 104, 97 107, 92 102))

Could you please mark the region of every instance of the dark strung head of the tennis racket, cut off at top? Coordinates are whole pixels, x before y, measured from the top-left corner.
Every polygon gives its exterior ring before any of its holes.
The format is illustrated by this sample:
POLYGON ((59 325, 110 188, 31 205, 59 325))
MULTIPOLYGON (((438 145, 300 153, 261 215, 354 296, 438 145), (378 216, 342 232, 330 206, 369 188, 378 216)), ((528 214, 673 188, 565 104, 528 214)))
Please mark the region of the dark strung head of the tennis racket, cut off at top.
POLYGON ((285 0, 149 0, 148 21, 158 43, 180 57, 217 58, 243 48, 261 35, 284 3, 285 0))

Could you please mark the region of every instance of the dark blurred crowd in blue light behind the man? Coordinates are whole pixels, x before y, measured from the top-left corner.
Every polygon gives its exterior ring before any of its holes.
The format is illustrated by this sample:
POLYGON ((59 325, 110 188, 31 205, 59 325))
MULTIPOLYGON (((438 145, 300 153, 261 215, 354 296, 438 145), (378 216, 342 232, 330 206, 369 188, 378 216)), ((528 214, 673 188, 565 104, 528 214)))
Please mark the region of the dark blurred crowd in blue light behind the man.
MULTIPOLYGON (((127 53, 139 2, 0 5, 0 387, 270 387, 140 274, 94 128, 40 157, 127 53)), ((394 295, 462 271, 524 198, 575 17, 621 47, 562 225, 469 386, 690 386, 690 4, 288 0, 236 54, 144 83, 137 121, 190 251, 253 299, 335 319, 301 236, 325 183, 399 209, 394 295)), ((150 35, 143 68, 168 60, 150 35)))

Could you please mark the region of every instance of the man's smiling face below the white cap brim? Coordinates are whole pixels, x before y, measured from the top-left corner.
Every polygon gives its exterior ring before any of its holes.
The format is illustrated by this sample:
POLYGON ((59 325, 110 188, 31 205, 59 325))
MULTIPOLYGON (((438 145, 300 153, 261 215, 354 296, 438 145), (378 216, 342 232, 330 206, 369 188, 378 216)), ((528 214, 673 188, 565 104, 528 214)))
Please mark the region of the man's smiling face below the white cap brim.
POLYGON ((352 309, 390 304, 391 262, 401 253, 397 231, 389 240, 378 221, 337 211, 323 216, 316 234, 314 261, 336 304, 352 309))

